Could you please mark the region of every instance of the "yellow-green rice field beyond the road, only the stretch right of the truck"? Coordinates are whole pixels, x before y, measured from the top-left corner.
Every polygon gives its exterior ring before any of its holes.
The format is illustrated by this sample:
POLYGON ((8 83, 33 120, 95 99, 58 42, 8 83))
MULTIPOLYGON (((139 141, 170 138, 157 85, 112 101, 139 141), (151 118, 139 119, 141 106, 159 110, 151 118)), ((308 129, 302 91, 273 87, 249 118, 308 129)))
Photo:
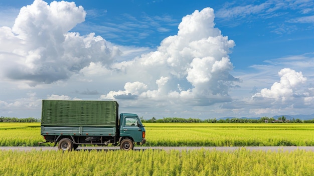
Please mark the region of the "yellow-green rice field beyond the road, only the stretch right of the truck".
POLYGON ((146 124, 149 146, 314 146, 312 123, 146 124))

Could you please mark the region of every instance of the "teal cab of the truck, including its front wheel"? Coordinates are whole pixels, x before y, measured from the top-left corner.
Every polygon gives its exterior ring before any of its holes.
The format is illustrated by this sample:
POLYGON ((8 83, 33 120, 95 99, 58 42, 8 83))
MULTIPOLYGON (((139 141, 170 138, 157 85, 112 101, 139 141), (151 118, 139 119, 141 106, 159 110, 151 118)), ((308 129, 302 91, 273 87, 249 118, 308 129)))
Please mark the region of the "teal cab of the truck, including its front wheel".
POLYGON ((143 144, 145 139, 145 128, 136 114, 120 114, 120 148, 124 150, 133 149, 133 142, 143 144))

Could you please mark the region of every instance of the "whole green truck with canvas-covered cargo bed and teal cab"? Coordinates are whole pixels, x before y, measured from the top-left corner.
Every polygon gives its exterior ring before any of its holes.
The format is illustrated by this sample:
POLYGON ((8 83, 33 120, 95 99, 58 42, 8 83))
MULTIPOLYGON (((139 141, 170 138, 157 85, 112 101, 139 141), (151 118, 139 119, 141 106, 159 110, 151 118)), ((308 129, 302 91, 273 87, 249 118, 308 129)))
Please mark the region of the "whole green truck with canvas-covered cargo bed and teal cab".
POLYGON ((41 135, 60 150, 79 145, 120 145, 133 149, 143 144, 145 128, 136 114, 118 113, 116 101, 43 100, 41 135))

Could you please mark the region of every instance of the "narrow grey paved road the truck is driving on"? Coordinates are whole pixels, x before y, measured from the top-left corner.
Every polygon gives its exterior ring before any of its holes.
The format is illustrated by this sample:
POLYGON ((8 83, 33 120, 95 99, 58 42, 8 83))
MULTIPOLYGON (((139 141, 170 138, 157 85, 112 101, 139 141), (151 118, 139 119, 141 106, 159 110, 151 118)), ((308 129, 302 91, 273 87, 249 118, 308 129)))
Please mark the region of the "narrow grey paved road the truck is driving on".
MULTIPOLYGON (((293 150, 306 150, 314 151, 314 146, 246 146, 246 147, 134 147, 134 150, 146 150, 146 149, 159 149, 159 150, 195 150, 195 149, 217 150, 217 151, 234 151, 241 148, 248 150, 262 150, 262 151, 293 151, 293 150)), ((78 147, 76 150, 120 150, 119 147, 78 147)), ((58 147, 0 147, 0 150, 19 150, 19 151, 31 151, 31 150, 58 150, 58 147)))

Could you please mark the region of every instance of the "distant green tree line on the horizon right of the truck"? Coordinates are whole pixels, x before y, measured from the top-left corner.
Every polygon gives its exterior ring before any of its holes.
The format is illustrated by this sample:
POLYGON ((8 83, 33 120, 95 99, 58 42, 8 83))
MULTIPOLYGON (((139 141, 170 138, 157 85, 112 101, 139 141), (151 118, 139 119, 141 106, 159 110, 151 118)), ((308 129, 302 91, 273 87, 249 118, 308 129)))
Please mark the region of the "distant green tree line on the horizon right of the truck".
POLYGON ((284 116, 274 119, 273 117, 261 117, 260 119, 248 119, 248 118, 227 118, 227 119, 199 119, 199 118, 180 118, 180 117, 164 117, 162 119, 151 119, 145 120, 140 117, 143 123, 314 123, 314 119, 311 120, 300 120, 300 119, 289 119, 287 120, 284 116))

